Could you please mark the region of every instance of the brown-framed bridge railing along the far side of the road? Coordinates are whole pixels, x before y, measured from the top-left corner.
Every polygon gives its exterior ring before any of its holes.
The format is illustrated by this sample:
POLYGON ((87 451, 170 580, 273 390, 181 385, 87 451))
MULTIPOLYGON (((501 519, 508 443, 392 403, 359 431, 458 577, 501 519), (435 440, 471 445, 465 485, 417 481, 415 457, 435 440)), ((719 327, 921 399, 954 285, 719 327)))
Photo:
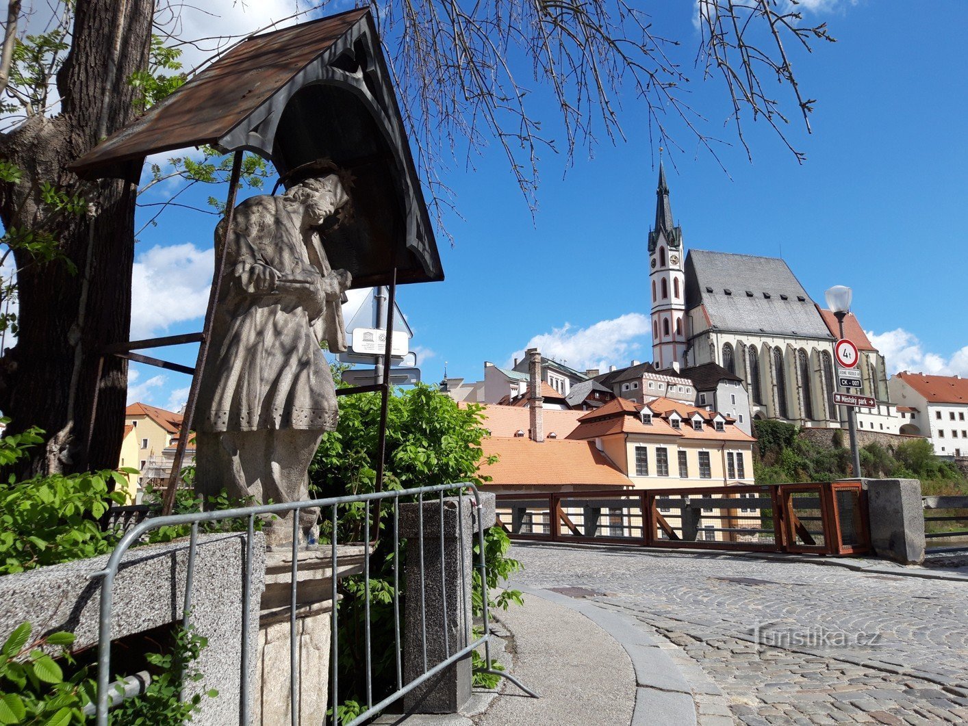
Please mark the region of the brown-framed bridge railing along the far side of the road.
POLYGON ((512 539, 858 555, 870 549, 858 481, 499 494, 512 539))

